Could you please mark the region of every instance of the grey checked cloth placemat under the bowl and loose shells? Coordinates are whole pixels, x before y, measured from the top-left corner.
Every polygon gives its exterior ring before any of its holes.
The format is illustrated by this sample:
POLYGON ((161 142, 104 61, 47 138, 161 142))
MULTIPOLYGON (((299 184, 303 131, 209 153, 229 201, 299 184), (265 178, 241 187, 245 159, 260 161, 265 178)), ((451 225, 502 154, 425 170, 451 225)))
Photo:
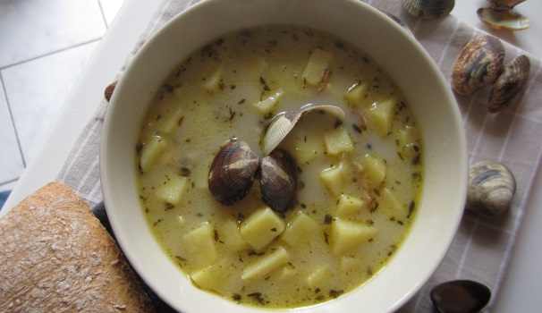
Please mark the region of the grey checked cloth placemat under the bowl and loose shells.
MULTIPOLYGON (((400 1, 363 1, 405 21, 448 80, 463 45, 483 34, 452 15, 437 20, 419 20, 404 13, 400 1)), ((165 22, 197 2, 199 0, 164 0, 125 64, 130 63, 131 57, 165 22)), ((529 81, 521 100, 504 112, 489 114, 486 108, 488 89, 478 90, 471 96, 455 94, 455 97, 467 133, 470 164, 492 160, 507 165, 517 181, 512 206, 506 214, 494 218, 465 213, 452 246, 436 273, 400 312, 431 312, 430 289, 437 283, 453 279, 470 279, 486 284, 493 292, 486 310, 491 308, 499 291, 542 155, 538 138, 542 133, 542 89, 539 88, 542 86, 542 63, 519 48, 506 43, 504 47, 504 62, 521 54, 528 55, 530 59, 529 81)), ((117 78, 122 76, 124 68, 117 78)), ((102 100, 57 177, 86 199, 91 207, 102 200, 99 143, 106 107, 106 100, 102 100)))

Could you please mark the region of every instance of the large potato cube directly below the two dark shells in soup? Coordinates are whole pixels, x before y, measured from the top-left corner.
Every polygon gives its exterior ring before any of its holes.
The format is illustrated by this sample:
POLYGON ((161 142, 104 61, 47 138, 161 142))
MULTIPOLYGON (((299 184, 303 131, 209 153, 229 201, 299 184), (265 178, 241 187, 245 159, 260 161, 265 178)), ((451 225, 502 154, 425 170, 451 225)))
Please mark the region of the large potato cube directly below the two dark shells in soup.
POLYGON ((253 250, 260 251, 267 247, 284 231, 283 219, 269 207, 253 212, 241 223, 241 237, 253 250))

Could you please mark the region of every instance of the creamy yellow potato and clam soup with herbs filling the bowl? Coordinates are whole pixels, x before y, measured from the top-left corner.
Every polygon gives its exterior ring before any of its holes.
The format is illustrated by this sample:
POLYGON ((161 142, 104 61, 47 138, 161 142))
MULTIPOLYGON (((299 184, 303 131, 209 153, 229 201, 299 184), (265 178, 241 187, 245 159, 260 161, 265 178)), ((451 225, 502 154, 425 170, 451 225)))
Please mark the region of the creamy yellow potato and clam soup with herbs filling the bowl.
POLYGON ((190 55, 135 150, 165 253, 200 289, 266 308, 333 300, 377 275, 423 182, 422 139, 394 81, 340 38, 293 26, 239 30, 190 55))

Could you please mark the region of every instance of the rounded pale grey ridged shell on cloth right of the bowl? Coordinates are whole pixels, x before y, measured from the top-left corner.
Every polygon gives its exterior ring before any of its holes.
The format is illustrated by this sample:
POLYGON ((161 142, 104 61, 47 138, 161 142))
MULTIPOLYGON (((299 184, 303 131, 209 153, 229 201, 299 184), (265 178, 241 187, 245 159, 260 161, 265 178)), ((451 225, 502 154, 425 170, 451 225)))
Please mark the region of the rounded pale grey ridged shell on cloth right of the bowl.
POLYGON ((469 169, 466 207, 482 216, 499 215, 510 207, 515 190, 515 179, 505 165, 478 162, 469 169))

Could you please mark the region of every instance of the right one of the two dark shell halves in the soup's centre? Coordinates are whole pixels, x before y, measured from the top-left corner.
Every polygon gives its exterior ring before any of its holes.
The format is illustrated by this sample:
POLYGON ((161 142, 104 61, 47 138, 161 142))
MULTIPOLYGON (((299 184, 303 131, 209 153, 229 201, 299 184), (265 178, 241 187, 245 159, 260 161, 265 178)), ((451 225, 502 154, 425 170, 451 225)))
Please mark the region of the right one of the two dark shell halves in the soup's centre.
POLYGON ((276 148, 261 159, 259 188, 264 203, 279 213, 293 207, 297 199, 297 166, 286 151, 276 148))

